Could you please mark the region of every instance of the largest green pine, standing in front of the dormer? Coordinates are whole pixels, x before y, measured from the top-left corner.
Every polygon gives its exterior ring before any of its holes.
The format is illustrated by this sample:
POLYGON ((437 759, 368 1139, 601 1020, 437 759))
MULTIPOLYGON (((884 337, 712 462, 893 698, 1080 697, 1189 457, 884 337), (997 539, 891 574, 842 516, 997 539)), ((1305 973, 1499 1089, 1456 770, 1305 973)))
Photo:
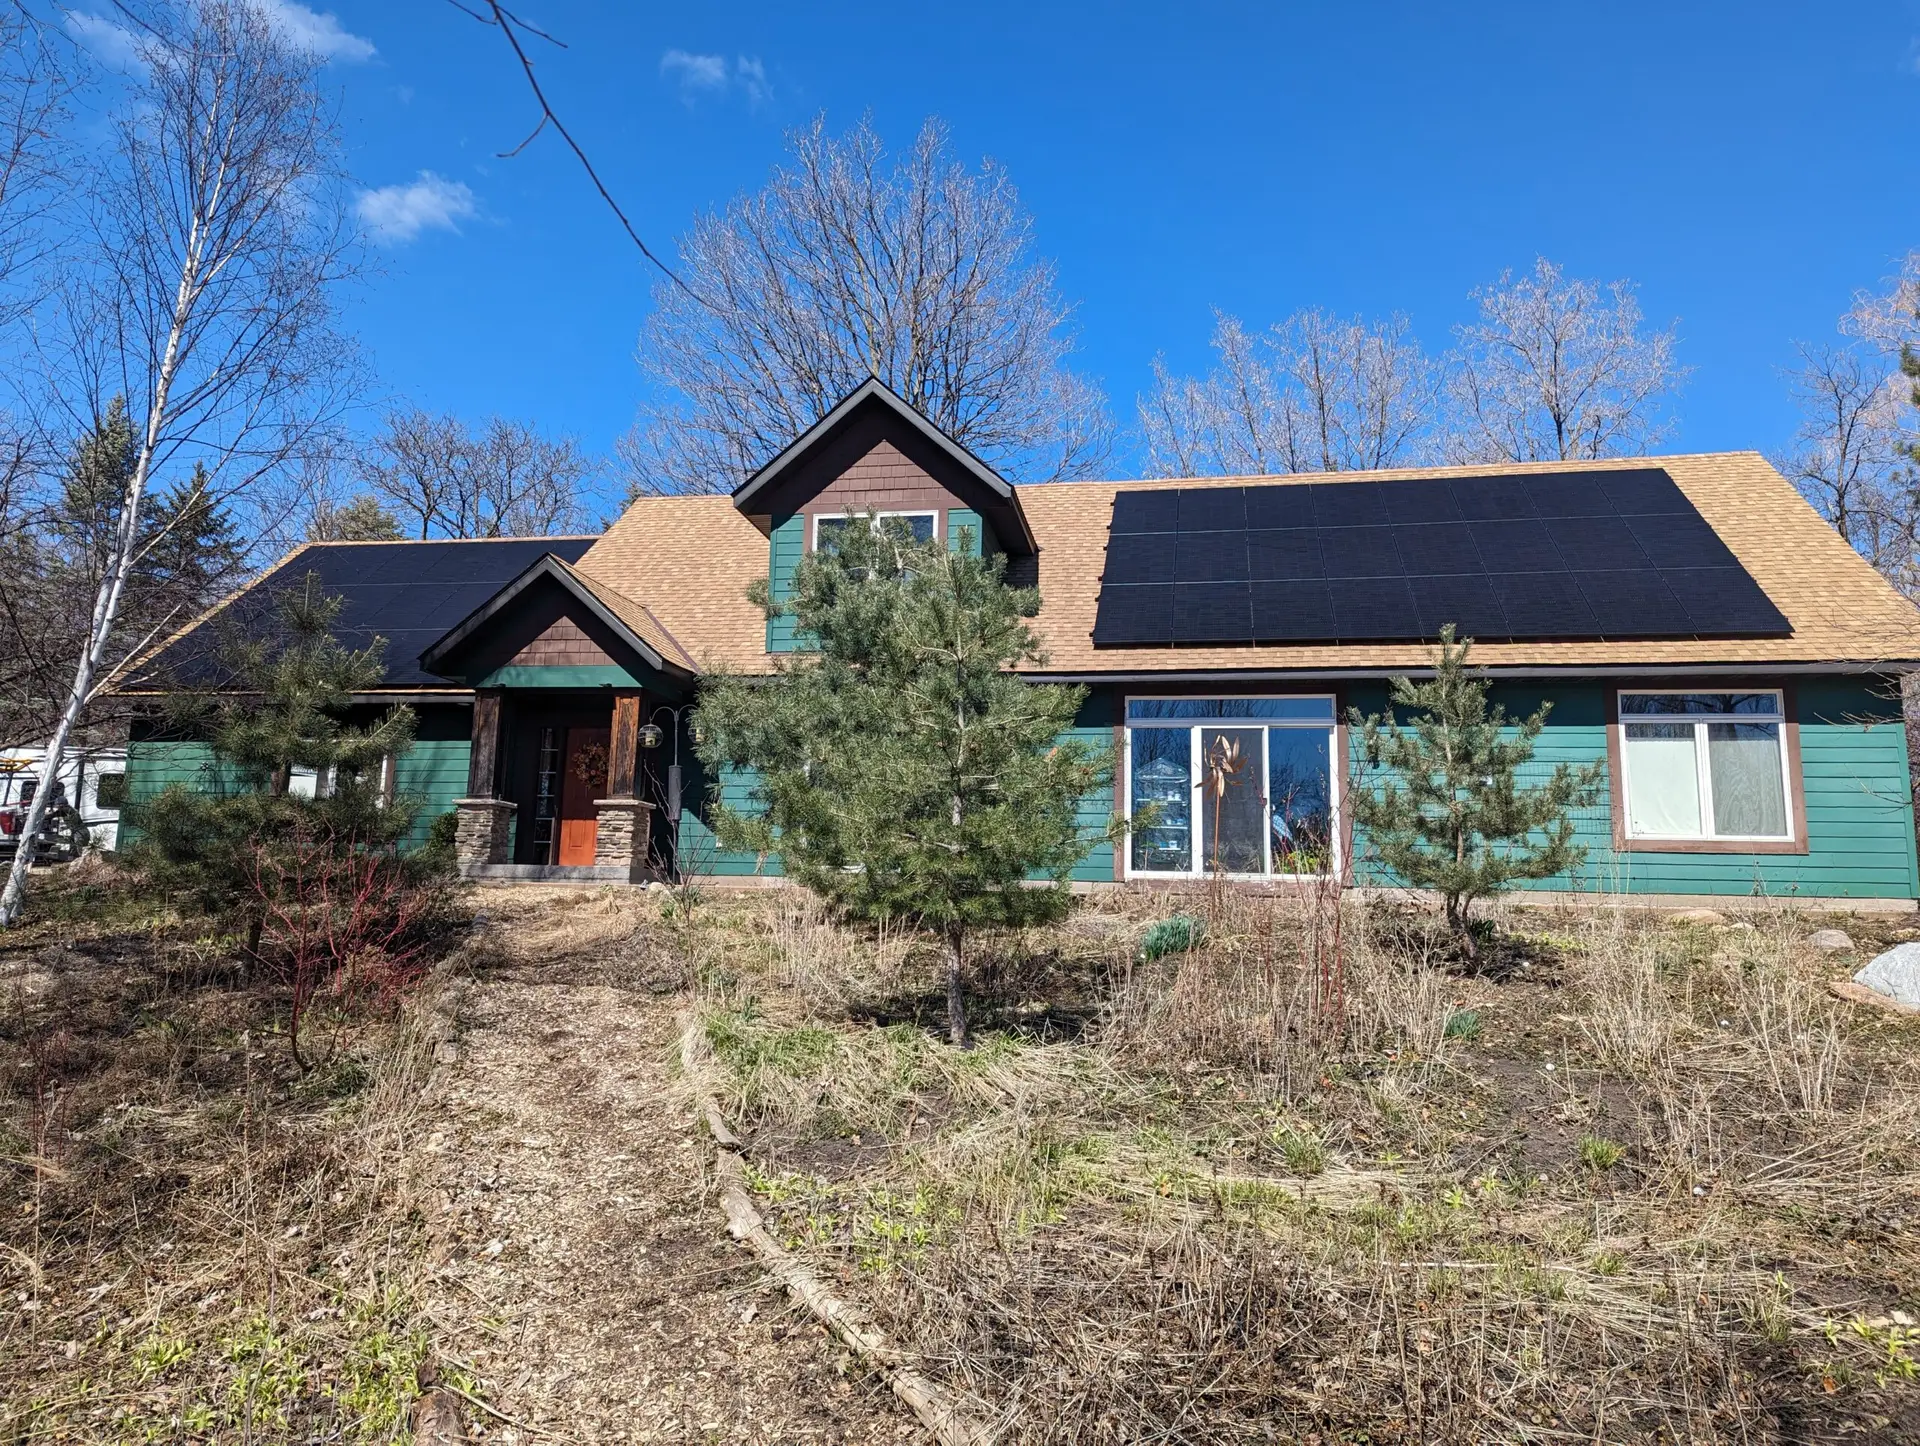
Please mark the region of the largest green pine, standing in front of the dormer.
POLYGON ((1069 908, 1091 841, 1075 803, 1112 774, 1106 749, 1062 741, 1083 687, 1008 672, 1039 661, 1033 588, 1004 559, 899 524, 849 518, 806 557, 791 615, 816 653, 770 680, 722 680, 699 711, 701 759, 755 768, 764 814, 716 807, 730 849, 780 853, 785 872, 849 918, 912 920, 947 952, 947 1031, 968 1043, 966 945, 981 928, 1069 908), (1043 880, 1052 887, 1025 887, 1043 880))

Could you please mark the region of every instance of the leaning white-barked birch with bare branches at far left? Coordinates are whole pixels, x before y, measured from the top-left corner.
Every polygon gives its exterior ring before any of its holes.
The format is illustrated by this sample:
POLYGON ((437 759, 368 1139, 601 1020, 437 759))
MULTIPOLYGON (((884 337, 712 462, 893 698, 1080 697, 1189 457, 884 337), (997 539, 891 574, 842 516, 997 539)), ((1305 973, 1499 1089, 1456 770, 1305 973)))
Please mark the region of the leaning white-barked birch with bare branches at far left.
POLYGON ((125 396, 136 449, 0 926, 19 920, 52 780, 106 680, 150 478, 188 457, 204 490, 278 469, 328 415, 342 361, 330 290, 351 238, 321 60, 246 0, 157 10, 136 44, 142 65, 92 196, 90 284, 69 307, 92 421, 125 396))

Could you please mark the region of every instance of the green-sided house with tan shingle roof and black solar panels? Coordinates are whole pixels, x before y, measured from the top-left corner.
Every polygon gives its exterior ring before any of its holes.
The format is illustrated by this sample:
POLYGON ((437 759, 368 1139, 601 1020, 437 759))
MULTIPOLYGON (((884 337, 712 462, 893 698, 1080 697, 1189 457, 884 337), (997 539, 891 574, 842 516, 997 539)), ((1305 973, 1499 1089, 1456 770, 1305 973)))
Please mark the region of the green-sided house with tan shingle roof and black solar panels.
MULTIPOLYGON (((1094 883, 1338 870, 1380 881, 1344 818, 1348 709, 1428 664, 1452 622, 1509 714, 1553 711, 1538 764, 1605 760, 1582 866, 1555 891, 1649 901, 1920 899, 1901 678, 1920 613, 1757 453, 1325 476, 1014 486, 879 382, 732 495, 643 497, 597 540, 319 543, 173 639, 317 570, 344 622, 392 639, 367 707, 420 709, 396 785, 459 814, 478 878, 778 878, 705 818, 753 780, 707 778, 701 678, 766 674, 804 645, 781 597, 854 517, 1006 559, 1037 584, 1035 682, 1085 684, 1075 732, 1112 741, 1089 833, 1160 805, 1075 870, 1094 883), (1210 760, 1233 753, 1202 807, 1210 760)), ((131 789, 204 766, 134 734, 131 789)))

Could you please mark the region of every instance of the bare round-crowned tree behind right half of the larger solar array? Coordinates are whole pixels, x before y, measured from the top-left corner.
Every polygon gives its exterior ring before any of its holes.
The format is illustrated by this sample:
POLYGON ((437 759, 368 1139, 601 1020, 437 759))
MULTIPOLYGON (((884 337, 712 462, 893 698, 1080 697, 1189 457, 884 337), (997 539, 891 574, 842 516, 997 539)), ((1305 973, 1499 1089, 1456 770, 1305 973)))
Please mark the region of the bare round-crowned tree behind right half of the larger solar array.
POLYGON ((1567 280, 1540 257, 1475 298, 1480 319, 1455 328, 1450 357, 1457 461, 1620 457, 1665 436, 1686 369, 1672 328, 1642 328, 1630 282, 1567 280))

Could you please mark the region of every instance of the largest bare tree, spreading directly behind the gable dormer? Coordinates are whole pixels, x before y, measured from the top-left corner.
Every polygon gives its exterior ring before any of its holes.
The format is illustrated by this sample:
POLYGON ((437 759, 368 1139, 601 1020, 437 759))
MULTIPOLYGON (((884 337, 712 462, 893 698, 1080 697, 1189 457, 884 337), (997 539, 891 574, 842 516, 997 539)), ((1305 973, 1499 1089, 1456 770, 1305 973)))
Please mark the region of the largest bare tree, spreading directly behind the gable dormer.
POLYGON ((939 121, 899 157, 868 121, 816 119, 791 152, 655 288, 655 399, 620 447, 634 492, 728 490, 868 374, 1021 480, 1096 470, 1104 401, 1068 367, 1069 307, 1006 173, 968 171, 939 121))

